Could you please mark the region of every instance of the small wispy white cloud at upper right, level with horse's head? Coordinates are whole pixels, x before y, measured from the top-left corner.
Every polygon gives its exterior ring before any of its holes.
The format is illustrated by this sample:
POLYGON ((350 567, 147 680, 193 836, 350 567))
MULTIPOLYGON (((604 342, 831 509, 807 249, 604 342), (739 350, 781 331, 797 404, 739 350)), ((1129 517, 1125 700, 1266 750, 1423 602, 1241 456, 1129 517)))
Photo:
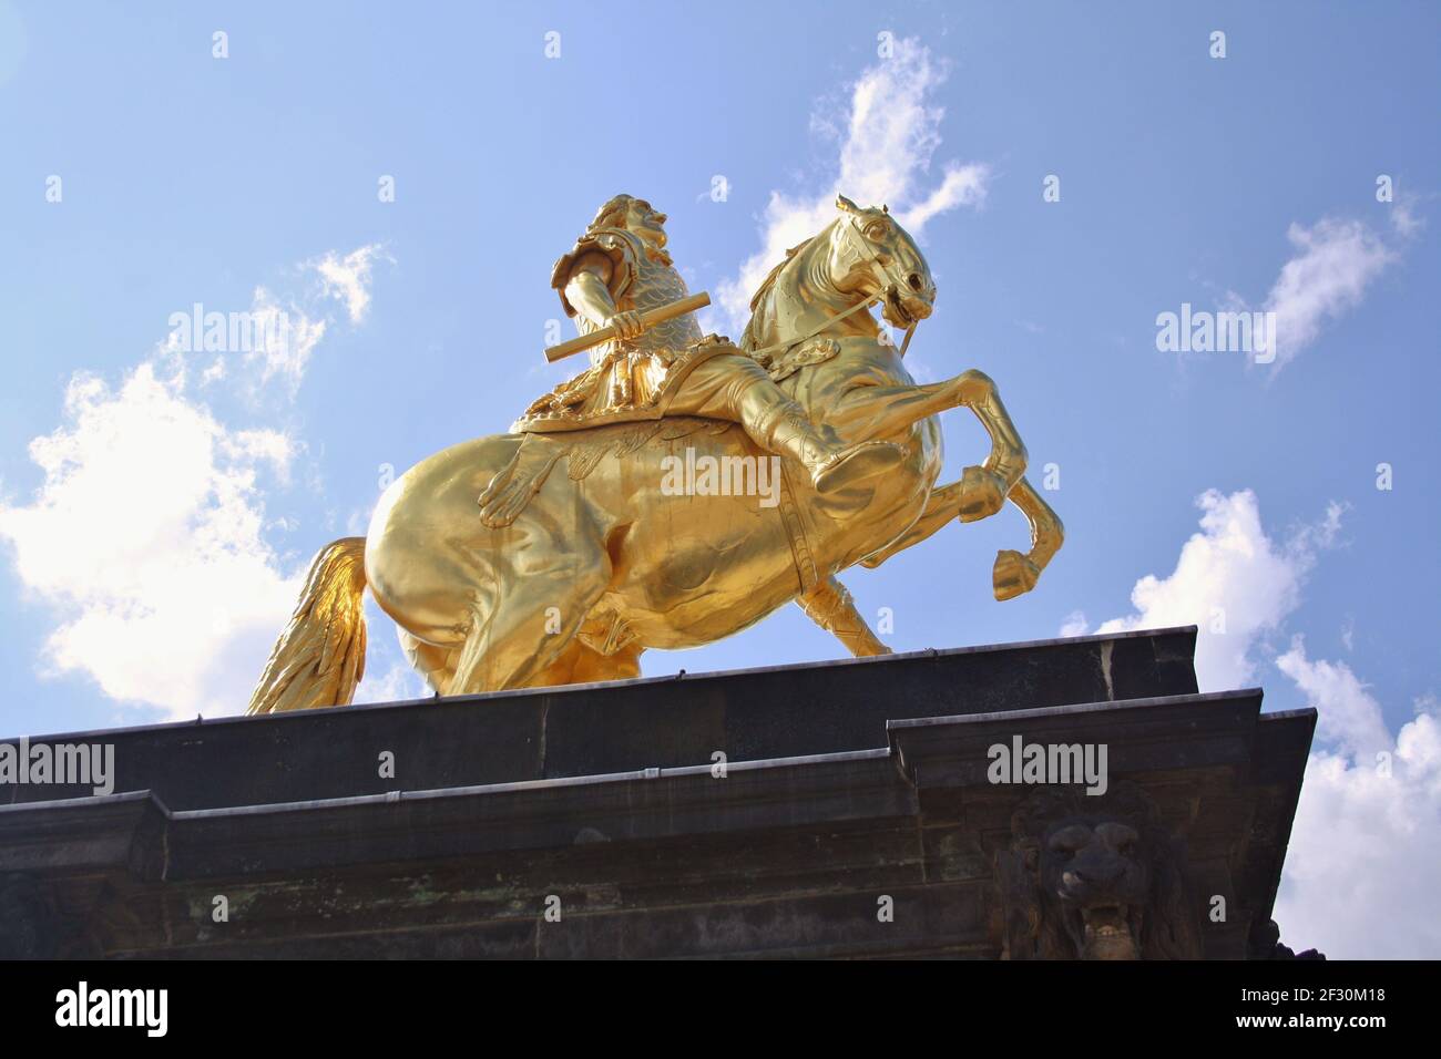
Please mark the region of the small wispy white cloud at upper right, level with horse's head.
POLYGON ((1295 254, 1262 305, 1275 313, 1277 370, 1316 341, 1327 321, 1356 308, 1366 287, 1398 256, 1360 220, 1293 223, 1285 236, 1295 254))

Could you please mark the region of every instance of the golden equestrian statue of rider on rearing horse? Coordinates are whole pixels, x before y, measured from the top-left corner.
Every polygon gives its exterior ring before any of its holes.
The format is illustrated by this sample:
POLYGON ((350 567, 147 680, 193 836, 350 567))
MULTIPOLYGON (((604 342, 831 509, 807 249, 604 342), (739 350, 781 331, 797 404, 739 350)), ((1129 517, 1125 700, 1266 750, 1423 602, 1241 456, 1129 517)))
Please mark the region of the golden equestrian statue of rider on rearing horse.
POLYGON ((885 206, 836 206, 761 284, 736 346, 687 311, 705 295, 666 252, 666 216, 607 202, 552 274, 581 337, 549 356, 589 349, 591 366, 510 434, 412 467, 365 537, 321 549, 248 712, 350 702, 366 586, 440 694, 635 677, 646 648, 709 644, 793 599, 852 654, 886 654, 836 575, 1007 499, 1032 545, 996 556, 993 588, 1030 591, 1062 526, 996 385, 912 380, 902 357, 935 300, 925 256, 885 206), (991 451, 937 486, 937 415, 958 406, 991 451))

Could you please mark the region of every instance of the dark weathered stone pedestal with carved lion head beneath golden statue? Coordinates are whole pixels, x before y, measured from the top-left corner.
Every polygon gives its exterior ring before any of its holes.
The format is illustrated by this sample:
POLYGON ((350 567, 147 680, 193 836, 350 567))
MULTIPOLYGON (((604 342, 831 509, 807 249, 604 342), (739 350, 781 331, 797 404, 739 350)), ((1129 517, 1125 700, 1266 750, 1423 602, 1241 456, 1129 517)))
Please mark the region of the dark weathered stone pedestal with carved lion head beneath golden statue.
POLYGON ((0 787, 0 955, 1270 955, 1316 715, 1195 638, 36 736, 117 782, 0 787))

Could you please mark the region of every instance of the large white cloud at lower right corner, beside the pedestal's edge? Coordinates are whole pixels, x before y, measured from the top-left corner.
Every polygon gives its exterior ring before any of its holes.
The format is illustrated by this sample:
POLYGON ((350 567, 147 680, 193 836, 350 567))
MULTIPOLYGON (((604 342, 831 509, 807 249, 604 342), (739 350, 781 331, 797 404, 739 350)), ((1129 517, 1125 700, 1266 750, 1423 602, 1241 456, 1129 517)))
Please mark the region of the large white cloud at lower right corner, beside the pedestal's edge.
POLYGON ((1355 745, 1373 743, 1385 725, 1350 670, 1304 654, 1285 670, 1319 710, 1323 736, 1343 748, 1307 761, 1274 912, 1281 941, 1342 960, 1441 957, 1431 875, 1441 864, 1434 702, 1418 703, 1427 712, 1402 726, 1393 748, 1386 739, 1383 768, 1355 745))

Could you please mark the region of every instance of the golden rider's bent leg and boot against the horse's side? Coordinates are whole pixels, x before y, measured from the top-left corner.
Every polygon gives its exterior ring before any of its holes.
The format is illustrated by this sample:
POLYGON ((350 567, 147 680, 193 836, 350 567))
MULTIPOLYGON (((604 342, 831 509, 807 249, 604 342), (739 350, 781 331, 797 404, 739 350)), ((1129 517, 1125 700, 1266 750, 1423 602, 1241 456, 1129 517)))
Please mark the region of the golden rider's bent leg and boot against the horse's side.
POLYGON ((814 425, 764 367, 739 353, 713 356, 693 367, 667 412, 741 424, 761 448, 798 460, 820 493, 873 478, 905 458, 905 450, 883 441, 843 444, 829 426, 814 425))

